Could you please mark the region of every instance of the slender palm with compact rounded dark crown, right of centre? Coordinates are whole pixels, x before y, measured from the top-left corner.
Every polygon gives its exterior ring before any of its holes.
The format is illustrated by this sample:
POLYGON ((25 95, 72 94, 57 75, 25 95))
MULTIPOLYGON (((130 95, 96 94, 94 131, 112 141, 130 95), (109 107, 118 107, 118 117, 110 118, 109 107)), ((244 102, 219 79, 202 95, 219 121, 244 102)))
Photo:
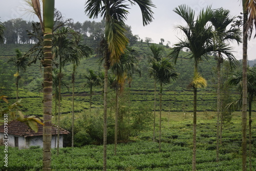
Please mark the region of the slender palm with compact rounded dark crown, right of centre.
POLYGON ((166 58, 161 58, 159 61, 152 61, 148 70, 150 71, 150 77, 153 77, 157 82, 160 83, 159 152, 161 152, 161 112, 163 84, 170 83, 172 79, 176 79, 178 77, 178 73, 174 72, 174 67, 166 58))

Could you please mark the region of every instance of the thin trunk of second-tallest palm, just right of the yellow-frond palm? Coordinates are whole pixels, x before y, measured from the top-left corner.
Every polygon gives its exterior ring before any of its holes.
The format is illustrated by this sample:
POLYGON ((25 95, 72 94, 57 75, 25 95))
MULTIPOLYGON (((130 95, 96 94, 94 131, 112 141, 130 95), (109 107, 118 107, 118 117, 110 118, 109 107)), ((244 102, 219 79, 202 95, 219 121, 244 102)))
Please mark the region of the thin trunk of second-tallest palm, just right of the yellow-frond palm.
POLYGON ((220 104, 221 104, 221 99, 220 99, 220 86, 221 86, 221 81, 220 81, 220 65, 221 65, 221 54, 219 52, 219 56, 217 59, 217 72, 218 72, 218 83, 217 83, 217 139, 216 139, 216 162, 219 162, 219 127, 220 127, 220 104))

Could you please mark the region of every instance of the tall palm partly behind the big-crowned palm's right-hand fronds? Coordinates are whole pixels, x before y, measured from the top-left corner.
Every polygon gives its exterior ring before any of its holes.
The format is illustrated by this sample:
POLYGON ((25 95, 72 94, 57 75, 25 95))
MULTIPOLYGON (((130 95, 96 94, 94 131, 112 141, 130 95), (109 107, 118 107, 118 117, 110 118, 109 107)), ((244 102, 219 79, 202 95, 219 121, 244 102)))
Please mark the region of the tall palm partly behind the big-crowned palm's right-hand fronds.
MULTIPOLYGON (((214 11, 214 17, 210 19, 212 26, 215 27, 216 33, 216 45, 227 44, 229 45, 230 41, 237 41, 238 44, 242 42, 240 29, 231 26, 231 28, 227 29, 227 27, 232 24, 235 17, 229 16, 230 11, 224 10, 223 8, 219 8, 214 11)), ((237 63, 236 58, 233 55, 228 56, 228 60, 230 62, 230 66, 234 66, 237 63)), ((217 83, 217 149, 216 149, 216 160, 219 162, 219 116, 220 116, 220 67, 223 62, 223 55, 221 52, 218 52, 217 57, 217 72, 218 72, 218 83, 217 83)))

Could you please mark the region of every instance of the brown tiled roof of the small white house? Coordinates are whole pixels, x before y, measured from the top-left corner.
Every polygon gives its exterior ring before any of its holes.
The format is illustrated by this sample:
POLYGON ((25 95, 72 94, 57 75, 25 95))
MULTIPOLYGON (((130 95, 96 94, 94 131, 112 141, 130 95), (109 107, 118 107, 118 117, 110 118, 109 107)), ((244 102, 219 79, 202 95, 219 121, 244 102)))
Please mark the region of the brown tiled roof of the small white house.
MULTIPOLYGON (((13 120, 8 123, 8 134, 23 136, 23 137, 31 137, 31 136, 41 136, 42 135, 42 125, 38 125, 38 132, 35 133, 31 130, 26 123, 19 122, 17 120, 13 120)), ((0 133, 4 133, 4 125, 0 125, 0 133)), ((52 135, 58 134, 58 126, 52 124, 52 135)), ((61 129, 59 130, 59 134, 70 134, 70 132, 61 129)))

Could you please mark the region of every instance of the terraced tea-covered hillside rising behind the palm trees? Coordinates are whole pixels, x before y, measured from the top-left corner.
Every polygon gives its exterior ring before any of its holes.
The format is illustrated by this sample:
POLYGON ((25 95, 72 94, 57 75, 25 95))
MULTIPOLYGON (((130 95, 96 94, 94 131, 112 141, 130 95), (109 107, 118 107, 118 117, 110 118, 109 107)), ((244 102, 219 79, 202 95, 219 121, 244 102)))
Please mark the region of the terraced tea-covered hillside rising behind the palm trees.
MULTIPOLYGON (((6 64, 11 56, 15 55, 15 49, 20 49, 25 52, 31 45, 1 45, 0 47, 0 64, 6 66, 6 69, 1 71, 1 79, 6 81, 6 86, 1 85, 2 93, 9 96, 9 98, 15 98, 15 80, 13 74, 15 69, 10 64, 6 64), (8 71, 8 77, 6 72, 8 71), (12 82, 12 83, 10 83, 12 82), (8 89, 7 89, 8 87, 8 89)), ((129 97, 131 105, 146 104, 148 106, 154 105, 154 81, 148 77, 147 74, 147 56, 150 55, 150 49, 146 42, 137 42, 133 47, 138 52, 139 66, 142 71, 142 76, 135 75, 132 81, 132 87, 125 89, 124 98, 129 97)), ((165 48, 167 54, 170 49, 165 48)), ((171 84, 164 85, 163 87, 163 111, 193 111, 193 90, 187 89, 189 82, 193 76, 193 60, 189 59, 187 52, 182 52, 180 58, 175 66, 179 73, 179 78, 173 81, 171 84)), ((216 61, 209 58, 207 61, 201 61, 199 63, 199 72, 207 80, 208 86, 205 89, 198 91, 198 111, 216 111, 216 61)), ((96 73, 103 71, 103 67, 98 63, 98 57, 93 56, 90 59, 84 59, 81 61, 80 66, 77 68, 76 84, 75 84, 75 105, 76 111, 89 108, 89 88, 81 88, 81 85, 85 82, 84 74, 87 73, 88 69, 93 69, 96 73)), ((65 73, 65 81, 70 84, 72 65, 68 64, 63 69, 65 73)), ((40 115, 41 111, 41 67, 40 63, 32 63, 28 67, 26 73, 21 74, 20 79, 20 92, 19 98, 22 98, 23 112, 25 114, 36 114, 40 115), (35 105, 36 104, 36 105, 35 105)), ((2 84, 4 84, 4 81, 2 84)), ((157 87, 159 90, 159 87, 157 87)), ((94 88, 93 95, 93 107, 101 108, 102 103, 102 88, 94 88)), ((110 91, 111 94, 112 91, 110 91)), ((71 90, 63 90, 62 100, 62 113, 70 113, 71 111, 71 90)), ((237 92, 233 91, 233 95, 237 92)), ((111 95, 110 95, 111 97, 111 95)), ((157 95, 157 99, 158 99, 157 95)), ((111 99, 110 99, 111 100, 111 99)), ((158 101, 158 100, 157 100, 158 101)), ((153 109, 153 108, 152 108, 153 109)), ((157 106, 157 110, 159 110, 157 106)), ((255 110, 253 108, 253 110, 255 110)))

